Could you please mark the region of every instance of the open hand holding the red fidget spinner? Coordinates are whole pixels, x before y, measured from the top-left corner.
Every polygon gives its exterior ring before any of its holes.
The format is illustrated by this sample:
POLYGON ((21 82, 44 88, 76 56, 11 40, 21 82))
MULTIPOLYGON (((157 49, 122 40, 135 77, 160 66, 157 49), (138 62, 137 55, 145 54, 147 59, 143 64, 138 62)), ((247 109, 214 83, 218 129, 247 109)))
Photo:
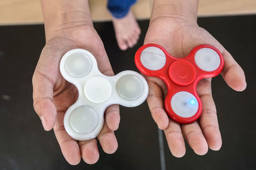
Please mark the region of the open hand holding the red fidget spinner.
MULTIPOLYGON (((182 15, 154 15, 150 20, 150 26, 145 38, 145 44, 156 43, 163 46, 175 57, 185 57, 198 45, 211 45, 223 54, 225 66, 221 73, 223 79, 234 90, 243 91, 246 88, 244 71, 233 59, 232 55, 214 39, 209 32, 205 31, 182 15)), ((159 129, 164 130, 166 140, 172 155, 182 157, 186 153, 184 139, 198 155, 204 155, 211 150, 220 150, 221 134, 218 126, 216 107, 212 99, 211 78, 201 80, 197 87, 197 93, 202 100, 202 115, 198 121, 192 124, 178 124, 164 111, 163 99, 167 89, 162 80, 147 77, 149 95, 148 106, 152 117, 159 129)))

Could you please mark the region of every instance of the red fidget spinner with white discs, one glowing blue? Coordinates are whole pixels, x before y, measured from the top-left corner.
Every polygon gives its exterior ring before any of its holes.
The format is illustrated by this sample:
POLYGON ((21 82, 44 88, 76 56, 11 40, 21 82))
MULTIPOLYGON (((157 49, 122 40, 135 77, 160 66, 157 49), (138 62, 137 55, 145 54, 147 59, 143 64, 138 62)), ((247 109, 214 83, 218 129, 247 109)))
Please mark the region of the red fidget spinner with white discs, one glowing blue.
POLYGON ((224 60, 220 51, 209 45, 196 46, 188 56, 176 58, 160 45, 147 44, 136 52, 135 64, 141 73, 166 83, 166 112, 176 122, 189 124, 202 113, 202 102, 196 94, 198 81, 220 74, 224 60))

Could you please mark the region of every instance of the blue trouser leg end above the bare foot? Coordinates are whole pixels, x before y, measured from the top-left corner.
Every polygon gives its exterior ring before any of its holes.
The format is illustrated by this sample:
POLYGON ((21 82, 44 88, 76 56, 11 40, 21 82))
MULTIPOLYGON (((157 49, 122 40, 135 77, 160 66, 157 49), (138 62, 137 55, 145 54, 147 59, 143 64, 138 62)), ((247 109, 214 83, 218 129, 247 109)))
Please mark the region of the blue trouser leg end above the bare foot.
POLYGON ((115 18, 123 18, 137 0, 108 0, 108 10, 115 18))

